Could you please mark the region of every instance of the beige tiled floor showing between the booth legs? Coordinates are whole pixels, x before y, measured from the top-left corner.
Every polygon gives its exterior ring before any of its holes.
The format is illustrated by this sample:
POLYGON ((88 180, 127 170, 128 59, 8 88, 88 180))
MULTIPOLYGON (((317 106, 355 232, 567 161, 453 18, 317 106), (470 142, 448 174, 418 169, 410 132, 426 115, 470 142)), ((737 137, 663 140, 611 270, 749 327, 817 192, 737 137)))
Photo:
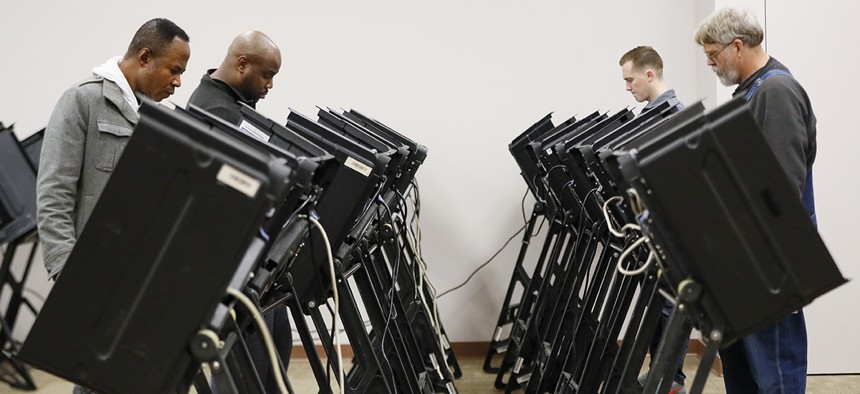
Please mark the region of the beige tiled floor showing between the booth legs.
MULTIPOLYGON (((481 359, 461 359, 460 366, 463 377, 456 382, 457 390, 466 394, 500 393, 493 388, 495 375, 484 373, 481 369, 481 359)), ((688 356, 685 371, 689 371, 688 379, 692 382, 694 378, 698 359, 688 356)), ((36 393, 41 394, 69 394, 72 392, 72 384, 42 371, 33 370, 32 375, 38 389, 36 393)), ((307 362, 293 360, 290 363, 290 379, 296 393, 315 393, 316 385, 313 374, 307 362)), ((810 376, 807 382, 807 393, 809 394, 857 394, 860 393, 860 375, 837 375, 837 376, 810 376)), ((0 383, 0 393, 24 393, 12 389, 8 385, 0 383)), ((705 394, 725 393, 723 379, 711 374, 704 389, 705 394)))

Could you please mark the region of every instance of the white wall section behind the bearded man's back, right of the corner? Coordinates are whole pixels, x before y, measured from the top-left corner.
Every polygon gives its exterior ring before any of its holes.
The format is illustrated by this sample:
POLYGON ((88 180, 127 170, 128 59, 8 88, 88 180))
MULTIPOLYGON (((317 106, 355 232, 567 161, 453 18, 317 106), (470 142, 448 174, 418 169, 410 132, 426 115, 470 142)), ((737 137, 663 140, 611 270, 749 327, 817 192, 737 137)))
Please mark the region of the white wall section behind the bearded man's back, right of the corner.
POLYGON ((806 309, 810 372, 815 373, 860 372, 860 265, 853 228, 860 221, 860 134, 854 119, 855 73, 850 70, 860 63, 856 15, 860 4, 853 1, 767 2, 768 52, 803 84, 818 118, 814 171, 819 231, 842 274, 853 278, 806 309))

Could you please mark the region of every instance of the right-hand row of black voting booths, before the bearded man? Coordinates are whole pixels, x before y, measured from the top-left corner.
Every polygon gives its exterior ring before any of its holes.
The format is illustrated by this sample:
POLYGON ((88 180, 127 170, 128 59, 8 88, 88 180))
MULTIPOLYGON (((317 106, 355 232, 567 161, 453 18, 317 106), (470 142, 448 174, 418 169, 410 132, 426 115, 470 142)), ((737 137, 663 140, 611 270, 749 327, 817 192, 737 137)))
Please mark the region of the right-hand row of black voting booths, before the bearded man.
POLYGON ((499 390, 667 393, 695 327, 699 393, 720 347, 845 282, 741 98, 547 115, 510 152, 537 202, 484 362, 499 390))

